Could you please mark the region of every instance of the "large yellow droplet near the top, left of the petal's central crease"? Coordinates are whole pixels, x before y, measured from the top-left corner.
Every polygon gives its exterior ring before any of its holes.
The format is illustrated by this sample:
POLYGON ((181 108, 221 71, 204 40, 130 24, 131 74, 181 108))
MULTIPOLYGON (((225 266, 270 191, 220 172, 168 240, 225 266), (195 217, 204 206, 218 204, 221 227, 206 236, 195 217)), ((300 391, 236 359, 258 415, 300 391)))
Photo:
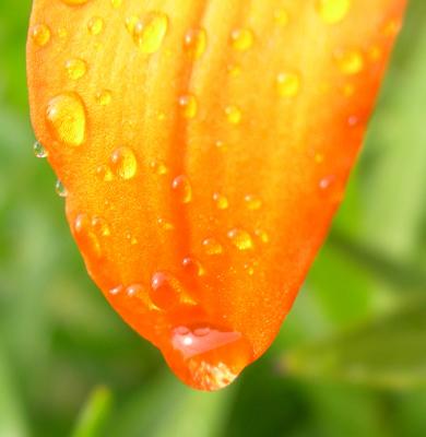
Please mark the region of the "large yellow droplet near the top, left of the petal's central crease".
POLYGON ((151 12, 145 20, 138 21, 132 32, 134 43, 142 52, 155 54, 163 44, 168 28, 168 17, 161 12, 151 12))

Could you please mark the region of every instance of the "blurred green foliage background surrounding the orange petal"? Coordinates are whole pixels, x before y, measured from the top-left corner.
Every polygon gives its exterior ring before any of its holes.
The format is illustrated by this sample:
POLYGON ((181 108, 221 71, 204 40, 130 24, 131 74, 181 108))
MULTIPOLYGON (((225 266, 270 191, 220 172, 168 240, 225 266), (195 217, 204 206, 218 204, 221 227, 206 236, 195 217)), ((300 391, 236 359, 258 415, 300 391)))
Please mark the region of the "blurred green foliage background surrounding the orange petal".
POLYGON ((200 393, 85 273, 34 157, 29 1, 0 2, 0 437, 426 436, 426 2, 411 2, 346 200, 268 354, 200 393))

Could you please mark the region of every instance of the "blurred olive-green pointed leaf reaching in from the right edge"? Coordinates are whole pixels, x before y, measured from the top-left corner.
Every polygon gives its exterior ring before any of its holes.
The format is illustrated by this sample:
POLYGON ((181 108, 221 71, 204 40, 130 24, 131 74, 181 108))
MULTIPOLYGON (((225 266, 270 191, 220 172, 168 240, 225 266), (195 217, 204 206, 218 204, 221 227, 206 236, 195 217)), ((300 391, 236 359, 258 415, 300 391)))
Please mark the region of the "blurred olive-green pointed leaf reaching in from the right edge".
POLYGON ((291 375, 389 388, 426 387, 426 300, 335 339, 288 352, 291 375))

